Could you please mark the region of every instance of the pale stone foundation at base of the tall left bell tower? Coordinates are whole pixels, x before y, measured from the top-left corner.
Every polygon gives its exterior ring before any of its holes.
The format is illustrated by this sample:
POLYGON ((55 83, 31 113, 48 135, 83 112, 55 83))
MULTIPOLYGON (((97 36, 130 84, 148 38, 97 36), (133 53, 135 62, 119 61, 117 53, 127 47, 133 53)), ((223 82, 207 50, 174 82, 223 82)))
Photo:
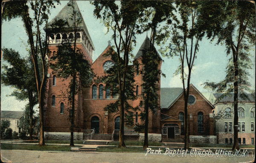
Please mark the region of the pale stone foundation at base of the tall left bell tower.
MULTIPOLYGON (((69 140, 70 132, 44 132, 46 140, 69 140)), ((82 132, 74 132, 74 140, 83 140, 82 132)))

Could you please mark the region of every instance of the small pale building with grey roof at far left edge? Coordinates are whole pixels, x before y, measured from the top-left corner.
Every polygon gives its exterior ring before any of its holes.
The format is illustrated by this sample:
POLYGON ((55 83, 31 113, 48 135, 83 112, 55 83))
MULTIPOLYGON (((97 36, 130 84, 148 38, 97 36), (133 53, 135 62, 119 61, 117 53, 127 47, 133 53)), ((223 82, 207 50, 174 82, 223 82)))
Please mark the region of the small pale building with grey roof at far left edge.
POLYGON ((21 132, 21 128, 19 128, 20 118, 24 115, 23 111, 1 111, 1 121, 2 120, 9 120, 10 127, 12 132, 21 132))

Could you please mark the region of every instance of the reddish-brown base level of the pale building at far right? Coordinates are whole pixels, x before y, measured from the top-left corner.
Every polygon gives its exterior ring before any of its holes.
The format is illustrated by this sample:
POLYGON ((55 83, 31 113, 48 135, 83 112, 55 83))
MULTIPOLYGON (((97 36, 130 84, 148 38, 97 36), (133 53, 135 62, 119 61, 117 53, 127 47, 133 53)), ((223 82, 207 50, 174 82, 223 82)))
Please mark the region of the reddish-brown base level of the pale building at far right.
MULTIPOLYGON (((232 138, 232 141, 234 142, 233 132, 217 132, 216 135, 218 138, 218 143, 225 143, 225 138, 228 139, 228 143, 230 143, 230 138, 232 138)), ((238 138, 241 138, 241 144, 243 143, 243 138, 245 138, 246 145, 251 145, 252 138, 254 138, 255 144, 255 133, 238 133, 238 138)))

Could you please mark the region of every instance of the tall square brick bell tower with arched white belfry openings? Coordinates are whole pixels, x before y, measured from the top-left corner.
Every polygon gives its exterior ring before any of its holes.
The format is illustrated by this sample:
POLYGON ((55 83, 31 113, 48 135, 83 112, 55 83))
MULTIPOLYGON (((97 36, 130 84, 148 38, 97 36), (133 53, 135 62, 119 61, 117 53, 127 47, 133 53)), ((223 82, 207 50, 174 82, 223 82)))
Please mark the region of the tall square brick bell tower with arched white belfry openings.
MULTIPOLYGON (((95 48, 76 1, 70 0, 57 16, 48 23, 47 27, 48 28, 44 28, 44 30, 48 36, 49 62, 52 62, 52 56, 58 53, 58 45, 65 42, 70 42, 72 46, 74 45, 75 35, 76 48, 81 50, 84 59, 87 59, 90 63, 93 62, 92 58, 95 48), (74 19, 74 14, 76 14, 76 17, 79 17, 79 21, 74 19), (59 22, 67 23, 60 28, 58 26, 60 24, 59 22), (77 26, 76 34, 74 28, 75 24, 77 26)), ((68 105, 67 94, 65 94, 65 92, 68 89, 70 79, 58 77, 57 74, 52 72, 50 67, 48 68, 47 76, 48 81, 45 98, 47 107, 45 107, 46 110, 44 111, 45 137, 46 139, 69 139, 70 108, 68 108, 68 106, 70 105, 68 105)), ((74 139, 82 139, 84 113, 82 109, 83 98, 81 91, 76 94, 75 99, 74 139)))

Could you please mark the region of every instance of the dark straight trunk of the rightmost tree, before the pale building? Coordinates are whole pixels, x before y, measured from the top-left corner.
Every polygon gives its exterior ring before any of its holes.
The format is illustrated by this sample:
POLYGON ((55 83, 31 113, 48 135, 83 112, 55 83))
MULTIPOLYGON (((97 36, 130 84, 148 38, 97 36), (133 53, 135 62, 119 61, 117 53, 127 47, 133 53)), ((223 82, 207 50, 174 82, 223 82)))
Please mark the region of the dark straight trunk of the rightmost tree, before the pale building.
POLYGON ((238 63, 237 57, 234 59, 235 77, 234 77, 234 143, 232 150, 239 150, 238 142, 238 63))

